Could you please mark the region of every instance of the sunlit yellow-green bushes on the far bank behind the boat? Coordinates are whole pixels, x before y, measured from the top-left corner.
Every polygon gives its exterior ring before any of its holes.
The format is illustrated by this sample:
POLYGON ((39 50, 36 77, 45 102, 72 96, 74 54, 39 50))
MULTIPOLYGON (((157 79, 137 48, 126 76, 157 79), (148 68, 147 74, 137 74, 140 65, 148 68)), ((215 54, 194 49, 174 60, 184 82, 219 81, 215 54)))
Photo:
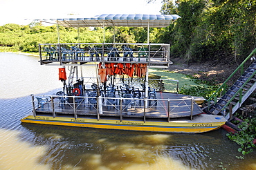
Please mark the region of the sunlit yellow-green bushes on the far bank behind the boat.
MULTIPOLYGON (((105 41, 113 42, 113 32, 115 32, 115 42, 147 42, 147 28, 105 28, 105 41)), ((155 34, 161 28, 150 30, 151 39, 156 39, 155 34)), ((102 43, 103 28, 64 28, 57 26, 40 26, 40 23, 31 23, 28 26, 20 26, 8 23, 0 26, 0 52, 22 52, 38 53, 38 44, 60 43, 102 43), (79 32, 79 34, 78 34, 79 32), (78 37, 79 35, 79 37, 78 37)))

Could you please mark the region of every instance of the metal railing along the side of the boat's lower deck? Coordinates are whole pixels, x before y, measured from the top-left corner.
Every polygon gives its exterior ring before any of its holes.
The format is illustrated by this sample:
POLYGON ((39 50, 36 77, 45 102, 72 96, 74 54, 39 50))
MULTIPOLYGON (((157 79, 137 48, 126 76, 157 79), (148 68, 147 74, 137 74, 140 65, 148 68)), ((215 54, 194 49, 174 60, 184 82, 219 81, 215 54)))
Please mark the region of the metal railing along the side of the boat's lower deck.
POLYGON ((190 117, 192 120, 194 98, 181 99, 150 99, 138 97, 102 97, 67 96, 67 95, 31 95, 33 115, 59 114, 79 118, 82 115, 120 117, 167 118, 170 122, 174 117, 190 117))

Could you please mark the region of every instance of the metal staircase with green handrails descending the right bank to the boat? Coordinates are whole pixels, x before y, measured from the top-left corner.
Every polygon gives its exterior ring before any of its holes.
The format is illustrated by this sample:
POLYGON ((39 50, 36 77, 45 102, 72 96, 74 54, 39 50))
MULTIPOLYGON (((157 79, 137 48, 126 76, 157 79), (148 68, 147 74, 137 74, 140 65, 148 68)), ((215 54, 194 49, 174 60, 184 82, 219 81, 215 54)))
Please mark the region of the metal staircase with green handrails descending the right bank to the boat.
POLYGON ((250 61, 252 55, 256 53, 256 48, 244 60, 244 62, 228 77, 228 79, 218 88, 218 90, 208 99, 208 113, 218 115, 221 113, 228 120, 230 114, 235 113, 241 104, 255 91, 256 89, 256 60, 245 71, 244 64, 250 61), (228 80, 241 69, 241 77, 232 84, 226 91, 228 80), (244 73, 243 73, 244 72, 244 73), (225 93, 217 101, 217 95, 225 93), (214 105, 210 106, 210 101, 214 100, 214 105))

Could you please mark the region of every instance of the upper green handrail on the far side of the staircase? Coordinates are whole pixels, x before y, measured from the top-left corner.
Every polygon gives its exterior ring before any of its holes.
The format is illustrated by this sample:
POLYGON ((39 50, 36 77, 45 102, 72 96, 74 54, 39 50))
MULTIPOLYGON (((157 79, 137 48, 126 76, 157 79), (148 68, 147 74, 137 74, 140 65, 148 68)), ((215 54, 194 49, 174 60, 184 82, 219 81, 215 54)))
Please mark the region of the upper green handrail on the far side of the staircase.
MULTIPOLYGON (((240 68, 244 68, 244 64, 247 62, 248 59, 250 59, 250 57, 252 57, 252 55, 256 52, 256 48, 253 50, 252 53, 250 53, 250 55, 248 55, 248 57, 246 57, 246 59, 244 59, 244 62, 242 62, 238 67, 237 69, 234 70, 234 72, 228 77, 228 79, 226 79, 225 82, 223 82, 223 84, 221 86, 219 86, 219 88, 217 89, 217 91, 215 91, 210 97, 209 99, 207 100, 208 102, 208 110, 210 108, 210 101, 212 100, 212 98, 214 97, 214 104, 217 103, 217 93, 219 91, 221 91, 223 88, 224 88, 224 92, 226 91, 226 84, 227 82, 231 79, 231 77, 233 77, 233 75, 235 75, 235 73, 237 73, 237 71, 240 69, 240 68)), ((243 71, 242 71, 243 72, 243 71)), ((241 88, 240 88, 241 89, 241 88)), ((239 90, 240 91, 240 90, 239 90)), ((234 95, 235 96, 235 95, 234 95)))

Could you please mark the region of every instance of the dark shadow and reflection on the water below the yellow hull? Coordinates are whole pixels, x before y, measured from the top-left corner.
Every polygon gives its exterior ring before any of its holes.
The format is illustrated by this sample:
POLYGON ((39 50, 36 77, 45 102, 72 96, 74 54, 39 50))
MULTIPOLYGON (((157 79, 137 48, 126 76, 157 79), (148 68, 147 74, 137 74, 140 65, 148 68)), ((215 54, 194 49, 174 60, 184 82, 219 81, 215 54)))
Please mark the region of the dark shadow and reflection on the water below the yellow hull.
MULTIPOLYGON (((38 163, 52 169, 243 169, 223 140, 222 130, 202 134, 116 131, 67 126, 22 124, 19 138, 47 149, 38 163), (234 162, 236 161, 236 162, 234 162)), ((249 167, 250 168, 250 167, 249 167)), ((249 169, 248 168, 248 169, 249 169)))

